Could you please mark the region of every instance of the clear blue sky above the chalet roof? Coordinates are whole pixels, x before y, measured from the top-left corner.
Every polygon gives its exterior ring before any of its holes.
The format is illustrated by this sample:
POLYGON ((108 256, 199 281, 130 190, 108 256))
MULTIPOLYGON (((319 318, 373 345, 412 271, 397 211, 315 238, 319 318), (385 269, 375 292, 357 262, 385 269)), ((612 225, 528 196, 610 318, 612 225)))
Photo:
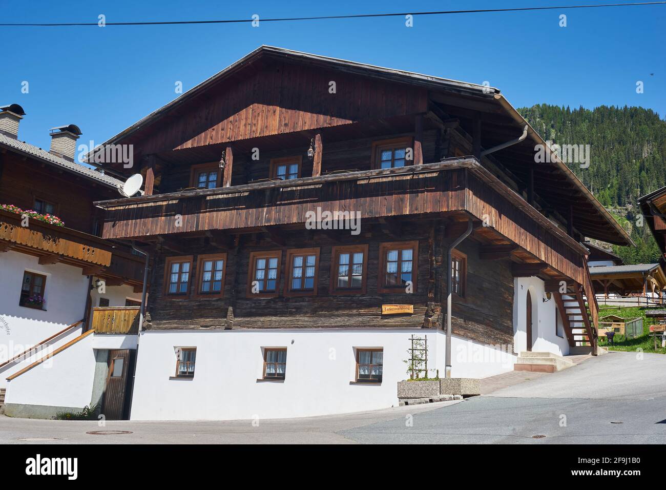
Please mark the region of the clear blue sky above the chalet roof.
MULTIPOLYGON (((619 0, 622 1, 622 0, 619 0)), ((626 1, 626 0, 625 0, 626 1)), ((2 22, 244 19, 607 3, 599 0, 7 1, 2 22)), ((19 139, 49 147, 75 123, 81 142, 119 133, 262 44, 499 87, 514 107, 641 105, 666 115, 666 5, 227 25, 0 27, 0 103, 27 115, 19 139), (559 27, 559 15, 567 27, 559 27), (654 73, 654 75, 650 75, 654 73), (29 93, 21 93, 23 81, 29 93), (637 81, 644 93, 637 94, 637 81)))

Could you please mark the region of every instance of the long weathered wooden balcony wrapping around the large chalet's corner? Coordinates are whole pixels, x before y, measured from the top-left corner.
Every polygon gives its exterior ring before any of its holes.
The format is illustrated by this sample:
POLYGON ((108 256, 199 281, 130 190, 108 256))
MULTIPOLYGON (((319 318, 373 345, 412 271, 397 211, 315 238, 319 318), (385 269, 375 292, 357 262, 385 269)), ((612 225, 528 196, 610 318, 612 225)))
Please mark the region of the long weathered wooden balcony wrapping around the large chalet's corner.
POLYGON ((584 280, 587 250, 474 157, 96 204, 107 209, 105 238, 143 241, 293 226, 306 223, 308 212, 360 211, 362 221, 418 215, 464 221, 471 215, 488 225, 475 231, 488 245, 515 244, 522 249, 515 252, 519 261, 545 263, 551 277, 584 280))

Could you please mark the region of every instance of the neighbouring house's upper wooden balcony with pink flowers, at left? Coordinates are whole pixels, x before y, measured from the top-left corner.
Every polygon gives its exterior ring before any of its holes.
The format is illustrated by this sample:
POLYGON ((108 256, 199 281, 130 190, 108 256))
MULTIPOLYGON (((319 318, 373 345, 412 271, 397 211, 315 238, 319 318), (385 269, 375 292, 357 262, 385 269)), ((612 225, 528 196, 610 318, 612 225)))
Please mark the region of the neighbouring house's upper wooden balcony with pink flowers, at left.
POLYGON ((0 210, 0 252, 9 250, 39 257, 39 263, 81 267, 83 275, 96 275, 107 285, 129 284, 141 291, 144 259, 109 241, 75 229, 29 219, 0 210))

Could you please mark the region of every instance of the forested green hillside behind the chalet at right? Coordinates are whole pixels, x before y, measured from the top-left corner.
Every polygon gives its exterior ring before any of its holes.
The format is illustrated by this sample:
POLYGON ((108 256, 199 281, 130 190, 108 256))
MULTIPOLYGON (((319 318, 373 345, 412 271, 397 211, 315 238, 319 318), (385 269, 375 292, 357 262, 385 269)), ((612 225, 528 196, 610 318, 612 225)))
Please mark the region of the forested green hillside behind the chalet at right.
POLYGON ((659 260, 649 228, 638 227, 636 200, 666 185, 666 121, 643 107, 570 109, 534 105, 518 109, 532 127, 559 145, 590 145, 589 168, 567 163, 631 233, 636 248, 613 247, 626 263, 659 260))

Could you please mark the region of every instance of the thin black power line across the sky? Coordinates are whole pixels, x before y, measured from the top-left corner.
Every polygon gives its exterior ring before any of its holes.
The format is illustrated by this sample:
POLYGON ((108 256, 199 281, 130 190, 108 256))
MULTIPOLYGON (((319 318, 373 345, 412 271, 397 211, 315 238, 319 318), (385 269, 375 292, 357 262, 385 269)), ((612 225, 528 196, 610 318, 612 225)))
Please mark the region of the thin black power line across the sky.
MULTIPOLYGON (((639 2, 639 3, 604 3, 599 5, 560 5, 557 7, 521 7, 514 9, 474 9, 474 10, 442 10, 432 12, 400 12, 400 13, 368 13, 357 15, 322 15, 320 17, 280 17, 275 19, 256 20, 260 22, 284 21, 320 21, 326 19, 368 19, 371 17, 404 17, 405 15, 450 15, 456 13, 494 13, 494 12, 520 12, 553 9, 595 9, 600 7, 637 7, 639 5, 665 5, 666 1, 639 2)), ((254 19, 226 19, 214 21, 161 21, 161 22, 106 22, 105 25, 176 25, 176 24, 232 24, 253 22, 254 19)), ((97 22, 69 22, 69 23, 0 23, 0 27, 83 27, 95 26, 97 22)))

